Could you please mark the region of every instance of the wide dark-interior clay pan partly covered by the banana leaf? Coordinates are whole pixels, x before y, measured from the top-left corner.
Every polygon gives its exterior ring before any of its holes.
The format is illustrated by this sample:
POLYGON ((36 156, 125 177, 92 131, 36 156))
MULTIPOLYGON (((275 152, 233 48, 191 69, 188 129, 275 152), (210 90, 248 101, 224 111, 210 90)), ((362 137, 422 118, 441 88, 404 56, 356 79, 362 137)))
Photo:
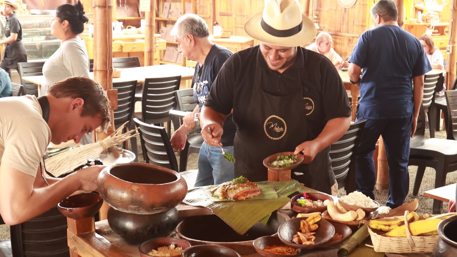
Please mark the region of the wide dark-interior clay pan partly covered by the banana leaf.
POLYGON ((272 236, 279 225, 290 220, 286 214, 276 211, 266 225, 256 223, 244 235, 239 235, 216 215, 189 217, 176 228, 176 236, 195 245, 218 245, 231 248, 241 255, 255 253, 253 241, 260 236, 272 236))

